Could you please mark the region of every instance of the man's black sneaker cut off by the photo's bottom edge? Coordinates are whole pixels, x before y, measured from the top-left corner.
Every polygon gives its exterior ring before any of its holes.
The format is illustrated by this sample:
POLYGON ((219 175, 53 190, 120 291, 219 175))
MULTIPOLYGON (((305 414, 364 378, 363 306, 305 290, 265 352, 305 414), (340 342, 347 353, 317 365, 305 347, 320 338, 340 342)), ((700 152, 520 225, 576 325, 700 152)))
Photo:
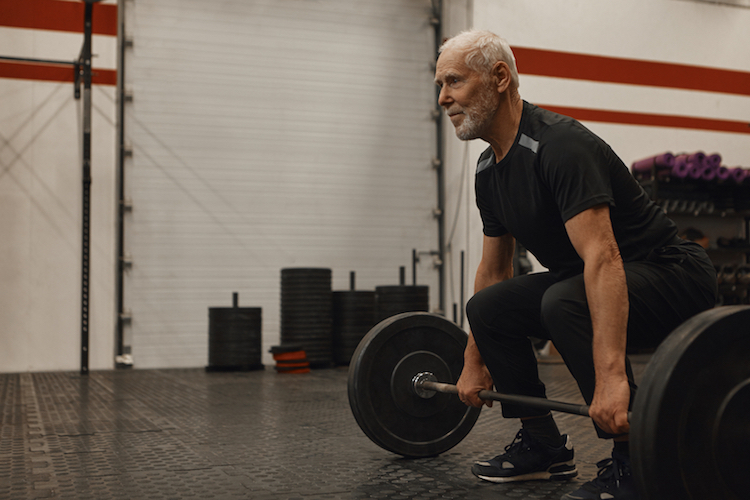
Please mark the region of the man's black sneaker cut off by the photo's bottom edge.
POLYGON ((568 493, 562 500, 638 500, 630 458, 612 452, 612 458, 602 460, 596 466, 599 467, 596 479, 568 493))

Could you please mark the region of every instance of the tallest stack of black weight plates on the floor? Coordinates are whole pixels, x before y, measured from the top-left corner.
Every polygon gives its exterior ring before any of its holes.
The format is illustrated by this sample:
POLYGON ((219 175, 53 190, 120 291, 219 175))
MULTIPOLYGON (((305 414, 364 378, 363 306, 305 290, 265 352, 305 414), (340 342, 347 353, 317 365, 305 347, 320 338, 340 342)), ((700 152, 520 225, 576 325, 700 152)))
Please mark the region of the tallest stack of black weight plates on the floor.
POLYGON ((304 346, 312 368, 333 364, 331 270, 281 270, 281 345, 304 346))

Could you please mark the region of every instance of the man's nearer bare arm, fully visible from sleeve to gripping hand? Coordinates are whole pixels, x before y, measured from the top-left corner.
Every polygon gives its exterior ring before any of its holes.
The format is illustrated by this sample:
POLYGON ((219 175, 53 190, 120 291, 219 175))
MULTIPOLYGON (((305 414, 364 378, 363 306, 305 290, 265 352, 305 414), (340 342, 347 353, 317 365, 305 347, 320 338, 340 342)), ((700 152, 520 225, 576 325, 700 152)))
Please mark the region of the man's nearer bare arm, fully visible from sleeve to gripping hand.
POLYGON ((584 262, 583 281, 594 330, 596 388, 589 414, 606 432, 628 432, 630 386, 625 371, 628 287, 608 205, 597 205, 565 223, 584 262))

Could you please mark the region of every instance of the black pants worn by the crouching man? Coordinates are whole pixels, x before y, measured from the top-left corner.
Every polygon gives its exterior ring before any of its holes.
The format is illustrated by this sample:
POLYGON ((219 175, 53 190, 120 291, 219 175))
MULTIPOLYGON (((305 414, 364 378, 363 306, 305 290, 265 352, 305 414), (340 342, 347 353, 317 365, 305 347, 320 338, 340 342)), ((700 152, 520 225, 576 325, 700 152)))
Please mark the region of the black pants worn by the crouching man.
MULTIPOLYGON (((703 248, 676 240, 644 261, 625 263, 628 347, 656 347, 683 321, 716 304, 716 271, 703 248)), ((588 404, 594 396, 593 331, 583 275, 518 276, 475 294, 466 306, 472 334, 499 392, 545 397, 529 337, 550 339, 588 404)), ((626 360, 631 405, 636 385, 626 360)), ((546 411, 503 404, 507 418, 546 411)), ((600 437, 611 437, 597 428, 600 437)))

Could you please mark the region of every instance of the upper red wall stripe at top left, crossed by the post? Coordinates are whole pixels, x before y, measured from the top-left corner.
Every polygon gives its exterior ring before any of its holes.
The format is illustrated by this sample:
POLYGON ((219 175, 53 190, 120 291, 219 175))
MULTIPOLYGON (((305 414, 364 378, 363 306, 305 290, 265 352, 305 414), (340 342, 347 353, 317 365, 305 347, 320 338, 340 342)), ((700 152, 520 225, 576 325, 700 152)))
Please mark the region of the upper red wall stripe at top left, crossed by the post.
MULTIPOLYGON (((84 2, 3 0, 0 26, 83 33, 84 8, 84 2)), ((117 36, 117 6, 95 3, 91 28, 95 35, 117 36)))

